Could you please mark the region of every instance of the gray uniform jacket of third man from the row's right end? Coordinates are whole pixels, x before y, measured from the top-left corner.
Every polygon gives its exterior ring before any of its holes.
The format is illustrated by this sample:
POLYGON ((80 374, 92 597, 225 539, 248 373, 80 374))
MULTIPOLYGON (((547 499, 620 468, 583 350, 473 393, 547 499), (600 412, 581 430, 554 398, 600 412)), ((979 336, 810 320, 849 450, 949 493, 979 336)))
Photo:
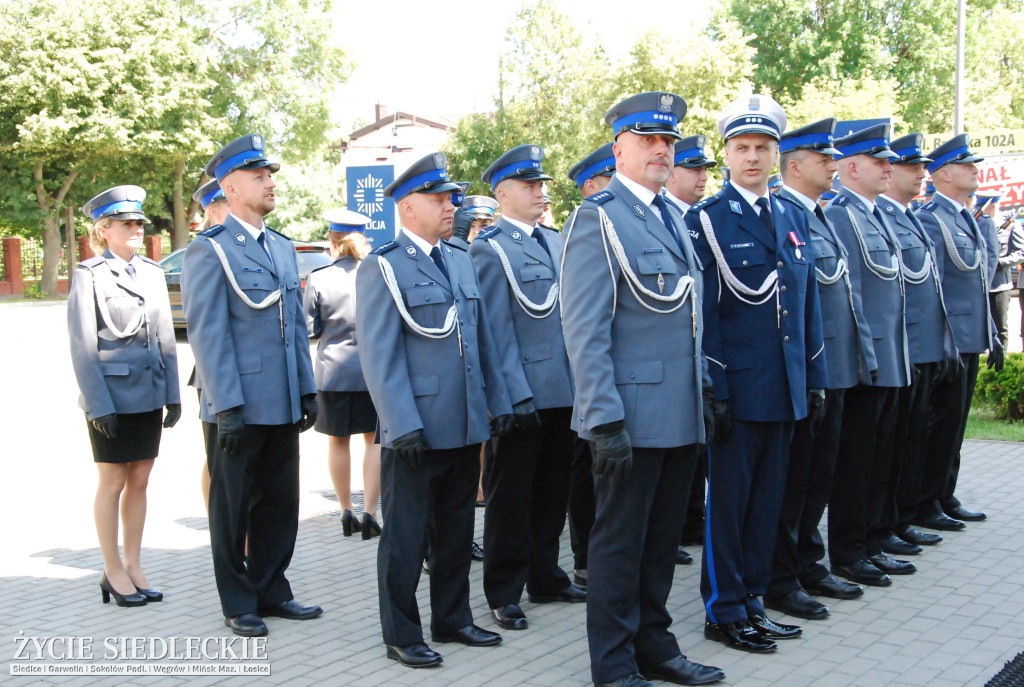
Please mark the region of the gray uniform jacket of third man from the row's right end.
MULTIPOLYGON (((878 207, 878 206, 876 206, 878 207)), ((881 211, 881 210, 880 210, 881 211)), ((910 380, 905 301, 896 235, 864 203, 845 188, 824 209, 836 235, 850 254, 850 282, 860 292, 879 372, 876 386, 902 387, 910 380), (895 270, 895 271, 893 271, 895 270)), ((860 382, 871 384, 868 371, 860 382)))

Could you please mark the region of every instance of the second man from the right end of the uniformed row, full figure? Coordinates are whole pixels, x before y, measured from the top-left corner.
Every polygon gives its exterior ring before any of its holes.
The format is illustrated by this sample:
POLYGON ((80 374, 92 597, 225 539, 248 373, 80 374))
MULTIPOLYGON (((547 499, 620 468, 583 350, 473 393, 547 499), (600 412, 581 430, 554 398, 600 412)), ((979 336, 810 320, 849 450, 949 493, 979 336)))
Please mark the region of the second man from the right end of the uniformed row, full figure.
POLYGON ((921 194, 925 165, 932 162, 922 154, 924 139, 924 135, 912 133, 890 143, 899 158, 892 160, 889 190, 878 199, 902 254, 911 366, 911 383, 899 390, 886 506, 879 531, 872 534, 883 541, 883 550, 893 555, 919 554, 921 545, 932 546, 942 541, 938 534, 923 532, 910 523, 921 502, 921 480, 935 469, 933 457, 928 453, 935 386, 946 383, 956 364, 956 346, 942 299, 935 245, 909 209, 921 194))

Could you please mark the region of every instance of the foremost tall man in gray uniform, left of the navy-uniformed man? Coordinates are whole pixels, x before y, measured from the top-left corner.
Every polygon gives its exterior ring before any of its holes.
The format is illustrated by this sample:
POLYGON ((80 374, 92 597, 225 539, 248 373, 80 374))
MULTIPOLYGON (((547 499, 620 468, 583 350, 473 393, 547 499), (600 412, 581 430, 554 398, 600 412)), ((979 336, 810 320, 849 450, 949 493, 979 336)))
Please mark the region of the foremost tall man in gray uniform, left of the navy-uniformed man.
POLYGON ((700 265, 682 217, 658 192, 685 113, 674 93, 612 106, 604 121, 615 136, 615 175, 564 229, 572 427, 591 441, 597 497, 587 588, 596 685, 725 677, 682 656, 666 607, 685 514, 679 495, 707 440, 700 265))

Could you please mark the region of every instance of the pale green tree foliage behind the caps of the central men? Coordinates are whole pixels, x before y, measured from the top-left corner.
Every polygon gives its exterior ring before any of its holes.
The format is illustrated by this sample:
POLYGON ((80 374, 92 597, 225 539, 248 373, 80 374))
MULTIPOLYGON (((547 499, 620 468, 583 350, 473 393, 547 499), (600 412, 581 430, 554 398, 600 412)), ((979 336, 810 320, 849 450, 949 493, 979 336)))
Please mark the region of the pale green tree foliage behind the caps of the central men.
POLYGON ((495 114, 464 118, 446 146, 454 178, 472 181, 470 192, 489 194, 480 174, 505 151, 543 145, 556 223, 582 198, 568 171, 611 138, 604 115, 616 101, 649 90, 683 96, 689 108, 682 128, 715 141, 715 118, 729 100, 750 92, 753 49, 735 24, 718 38, 656 33, 640 38, 613 62, 588 41, 551 0, 524 9, 510 26, 503 55, 501 96, 495 114))

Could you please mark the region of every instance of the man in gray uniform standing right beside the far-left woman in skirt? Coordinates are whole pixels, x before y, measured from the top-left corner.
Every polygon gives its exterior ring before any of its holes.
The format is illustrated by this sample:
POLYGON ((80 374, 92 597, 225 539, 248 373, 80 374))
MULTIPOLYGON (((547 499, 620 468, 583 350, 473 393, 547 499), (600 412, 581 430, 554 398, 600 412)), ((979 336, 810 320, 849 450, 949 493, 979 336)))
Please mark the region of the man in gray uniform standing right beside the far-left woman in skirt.
POLYGON ((210 463, 210 543, 224 624, 267 633, 261 616, 316 617, 285 570, 299 517, 299 432, 316 387, 292 242, 263 223, 275 206, 263 137, 246 135, 207 164, 231 212, 185 251, 181 299, 203 388, 210 463), (249 550, 245 552, 246 535, 249 550))

